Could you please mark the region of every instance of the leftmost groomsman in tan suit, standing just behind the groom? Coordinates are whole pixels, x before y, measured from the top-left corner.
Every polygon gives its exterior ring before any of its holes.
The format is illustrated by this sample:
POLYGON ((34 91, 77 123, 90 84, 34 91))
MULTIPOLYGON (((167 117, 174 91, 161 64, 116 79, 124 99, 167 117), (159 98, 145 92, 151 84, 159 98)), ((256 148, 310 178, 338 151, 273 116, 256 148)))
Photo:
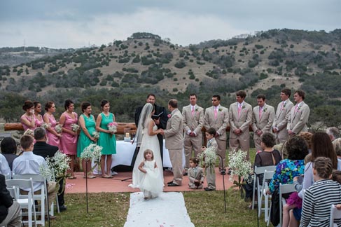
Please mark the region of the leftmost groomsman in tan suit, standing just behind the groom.
POLYGON ((200 153, 202 148, 202 126, 204 125, 204 109, 197 105, 197 95, 190 94, 190 104, 182 109, 183 130, 185 139, 183 140, 183 149, 185 151, 185 173, 190 167, 190 158, 192 158, 192 150, 194 156, 200 153))

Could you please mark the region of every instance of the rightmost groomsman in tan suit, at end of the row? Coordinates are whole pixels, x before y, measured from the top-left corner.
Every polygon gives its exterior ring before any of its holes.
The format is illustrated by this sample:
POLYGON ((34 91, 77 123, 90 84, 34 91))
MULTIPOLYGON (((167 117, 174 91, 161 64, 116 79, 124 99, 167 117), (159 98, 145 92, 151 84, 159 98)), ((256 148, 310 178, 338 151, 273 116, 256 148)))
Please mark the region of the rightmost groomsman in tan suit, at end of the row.
POLYGON ((307 122, 310 114, 310 109, 303 100, 305 99, 305 92, 302 90, 296 90, 293 94, 293 100, 295 106, 291 108, 290 115, 288 118, 288 135, 298 135, 300 132, 307 132, 307 122))

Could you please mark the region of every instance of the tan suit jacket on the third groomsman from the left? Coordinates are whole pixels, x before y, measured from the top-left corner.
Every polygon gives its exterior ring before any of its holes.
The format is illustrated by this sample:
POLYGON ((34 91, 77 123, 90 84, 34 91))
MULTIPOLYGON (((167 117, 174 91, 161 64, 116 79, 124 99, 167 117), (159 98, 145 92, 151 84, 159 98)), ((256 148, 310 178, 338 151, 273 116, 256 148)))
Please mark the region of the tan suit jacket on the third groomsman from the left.
POLYGON ((252 106, 246 102, 244 102, 244 105, 242 106, 242 111, 238 116, 238 104, 237 102, 232 103, 230 105, 230 139, 249 139, 249 125, 251 125, 252 121, 252 106), (237 136, 235 133, 233 133, 236 129, 242 130, 242 134, 237 136))

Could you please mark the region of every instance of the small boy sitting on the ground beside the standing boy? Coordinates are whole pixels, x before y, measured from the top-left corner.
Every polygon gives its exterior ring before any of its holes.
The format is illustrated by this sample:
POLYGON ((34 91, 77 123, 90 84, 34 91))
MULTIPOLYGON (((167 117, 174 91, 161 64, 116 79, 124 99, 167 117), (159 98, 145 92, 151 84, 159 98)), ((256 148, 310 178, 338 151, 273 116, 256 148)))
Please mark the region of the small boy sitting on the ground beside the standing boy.
POLYGON ((202 189, 204 184, 204 172, 202 167, 198 167, 199 160, 190 158, 190 168, 188 169, 188 186, 192 189, 202 189))

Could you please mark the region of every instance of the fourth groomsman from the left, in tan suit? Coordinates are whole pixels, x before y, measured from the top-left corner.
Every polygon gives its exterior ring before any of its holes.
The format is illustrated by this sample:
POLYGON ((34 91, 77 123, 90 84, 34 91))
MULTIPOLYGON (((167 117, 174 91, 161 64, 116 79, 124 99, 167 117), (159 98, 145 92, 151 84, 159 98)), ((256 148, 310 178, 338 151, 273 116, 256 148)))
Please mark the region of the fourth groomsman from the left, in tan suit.
POLYGON ((263 94, 257 96, 257 103, 258 106, 255 106, 252 111, 252 130, 256 151, 261 151, 260 137, 264 132, 271 132, 274 122, 274 107, 265 103, 263 94))

